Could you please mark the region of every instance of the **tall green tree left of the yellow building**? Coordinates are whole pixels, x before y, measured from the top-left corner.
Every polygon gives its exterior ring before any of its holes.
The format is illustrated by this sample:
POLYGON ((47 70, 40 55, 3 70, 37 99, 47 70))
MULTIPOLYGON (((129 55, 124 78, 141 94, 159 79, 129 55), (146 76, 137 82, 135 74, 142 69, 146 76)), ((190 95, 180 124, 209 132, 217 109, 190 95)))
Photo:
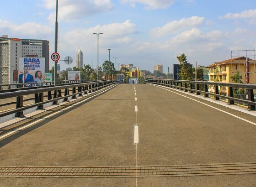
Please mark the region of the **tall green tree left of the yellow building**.
POLYGON ((180 73, 179 77, 181 80, 193 80, 193 70, 190 63, 187 62, 187 56, 185 54, 181 54, 181 56, 177 56, 178 61, 180 62, 180 73))

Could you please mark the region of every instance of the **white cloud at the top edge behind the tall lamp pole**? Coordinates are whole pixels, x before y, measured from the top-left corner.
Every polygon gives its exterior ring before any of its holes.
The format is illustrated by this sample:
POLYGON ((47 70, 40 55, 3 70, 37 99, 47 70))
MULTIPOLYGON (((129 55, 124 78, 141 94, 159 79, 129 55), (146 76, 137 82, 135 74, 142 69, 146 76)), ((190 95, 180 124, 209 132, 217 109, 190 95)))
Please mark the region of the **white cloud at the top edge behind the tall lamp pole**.
MULTIPOLYGON (((55 9, 55 0, 43 0, 47 9, 55 9)), ((59 0, 58 16, 60 21, 75 21, 101 12, 113 9, 111 0, 59 0)), ((55 12, 48 16, 55 21, 55 12)))

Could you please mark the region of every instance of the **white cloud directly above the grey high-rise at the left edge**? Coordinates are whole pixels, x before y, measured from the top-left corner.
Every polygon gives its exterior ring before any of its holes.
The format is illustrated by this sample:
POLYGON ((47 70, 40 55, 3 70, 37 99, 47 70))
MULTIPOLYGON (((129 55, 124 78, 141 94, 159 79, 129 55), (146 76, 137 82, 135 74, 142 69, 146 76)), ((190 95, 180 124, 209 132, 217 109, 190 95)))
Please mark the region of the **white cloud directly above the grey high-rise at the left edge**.
POLYGON ((0 19, 0 33, 7 33, 10 37, 39 37, 47 36, 53 33, 49 26, 41 25, 36 22, 25 22, 21 25, 11 23, 0 19))

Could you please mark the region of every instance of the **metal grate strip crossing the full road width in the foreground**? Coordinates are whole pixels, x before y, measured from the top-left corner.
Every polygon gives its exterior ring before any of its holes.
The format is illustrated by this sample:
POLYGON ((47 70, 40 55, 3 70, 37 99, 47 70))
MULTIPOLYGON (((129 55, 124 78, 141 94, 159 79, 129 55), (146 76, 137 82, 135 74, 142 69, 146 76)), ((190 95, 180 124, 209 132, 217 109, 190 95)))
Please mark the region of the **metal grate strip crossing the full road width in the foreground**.
POLYGON ((0 167, 0 177, 185 177, 256 174, 256 163, 117 167, 0 167))

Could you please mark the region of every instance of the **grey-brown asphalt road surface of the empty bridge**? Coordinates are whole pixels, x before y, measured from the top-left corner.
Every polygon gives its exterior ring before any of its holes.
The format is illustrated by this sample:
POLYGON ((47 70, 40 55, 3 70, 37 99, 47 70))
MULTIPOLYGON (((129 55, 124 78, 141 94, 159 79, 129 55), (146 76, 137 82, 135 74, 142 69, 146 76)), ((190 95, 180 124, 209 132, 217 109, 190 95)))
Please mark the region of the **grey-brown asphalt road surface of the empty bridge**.
MULTIPOLYGON (((85 102, 78 99, 74 107, 69 103, 1 129, 0 169, 256 163, 256 117, 169 90, 147 84, 120 84, 85 102), (48 117, 56 111, 59 113, 48 117), (44 120, 30 125, 38 119, 44 120), (27 128, 16 130, 24 125, 27 128)), ((0 186, 256 184, 256 174, 160 176, 0 177, 0 186)))

